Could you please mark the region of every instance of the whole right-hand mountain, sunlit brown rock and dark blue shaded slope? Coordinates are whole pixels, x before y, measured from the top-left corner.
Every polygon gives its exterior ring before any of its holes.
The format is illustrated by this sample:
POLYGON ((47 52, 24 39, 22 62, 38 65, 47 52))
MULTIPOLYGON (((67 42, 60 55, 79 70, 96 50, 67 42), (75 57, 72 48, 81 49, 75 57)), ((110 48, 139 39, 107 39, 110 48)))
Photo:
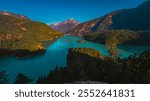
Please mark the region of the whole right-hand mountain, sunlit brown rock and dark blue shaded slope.
POLYGON ((114 11, 100 18, 81 23, 70 33, 88 34, 112 29, 150 30, 150 1, 136 8, 114 11))

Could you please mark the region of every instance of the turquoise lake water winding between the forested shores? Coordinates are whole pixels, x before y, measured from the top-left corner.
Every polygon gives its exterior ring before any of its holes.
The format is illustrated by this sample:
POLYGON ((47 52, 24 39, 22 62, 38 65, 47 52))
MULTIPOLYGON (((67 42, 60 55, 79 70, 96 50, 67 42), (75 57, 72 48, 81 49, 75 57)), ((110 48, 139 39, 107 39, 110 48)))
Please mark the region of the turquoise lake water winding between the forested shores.
MULTIPOLYGON (((79 39, 74 36, 65 36, 47 47, 47 51, 43 55, 18 59, 15 57, 0 58, 0 71, 7 71, 10 83, 14 82, 18 73, 23 73, 31 79, 36 80, 41 75, 47 75, 50 70, 54 70, 56 66, 66 66, 66 57, 69 48, 87 47, 94 48, 103 55, 108 55, 107 49, 102 44, 85 41, 78 43, 79 39)), ((142 46, 122 46, 119 49, 121 57, 128 57, 134 53, 141 53, 150 47, 142 46)))

